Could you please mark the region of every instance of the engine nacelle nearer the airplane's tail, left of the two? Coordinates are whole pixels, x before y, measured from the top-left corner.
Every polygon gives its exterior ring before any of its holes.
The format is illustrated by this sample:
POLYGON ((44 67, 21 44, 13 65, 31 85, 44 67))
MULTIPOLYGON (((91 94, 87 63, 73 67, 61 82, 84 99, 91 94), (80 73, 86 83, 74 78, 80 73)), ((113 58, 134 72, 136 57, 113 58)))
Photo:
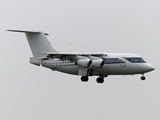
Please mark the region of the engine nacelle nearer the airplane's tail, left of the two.
POLYGON ((92 61, 90 59, 79 59, 76 64, 80 67, 90 67, 92 65, 92 61))

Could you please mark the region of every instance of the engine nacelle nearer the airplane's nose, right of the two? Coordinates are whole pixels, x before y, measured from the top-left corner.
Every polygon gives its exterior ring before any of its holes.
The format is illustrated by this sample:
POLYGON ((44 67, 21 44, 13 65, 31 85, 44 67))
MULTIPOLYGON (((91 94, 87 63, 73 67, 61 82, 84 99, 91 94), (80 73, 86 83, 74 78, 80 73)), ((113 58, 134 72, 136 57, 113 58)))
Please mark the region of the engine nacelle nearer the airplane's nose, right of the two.
POLYGON ((105 62, 102 59, 92 60, 92 66, 96 68, 102 68, 105 66, 105 62))

